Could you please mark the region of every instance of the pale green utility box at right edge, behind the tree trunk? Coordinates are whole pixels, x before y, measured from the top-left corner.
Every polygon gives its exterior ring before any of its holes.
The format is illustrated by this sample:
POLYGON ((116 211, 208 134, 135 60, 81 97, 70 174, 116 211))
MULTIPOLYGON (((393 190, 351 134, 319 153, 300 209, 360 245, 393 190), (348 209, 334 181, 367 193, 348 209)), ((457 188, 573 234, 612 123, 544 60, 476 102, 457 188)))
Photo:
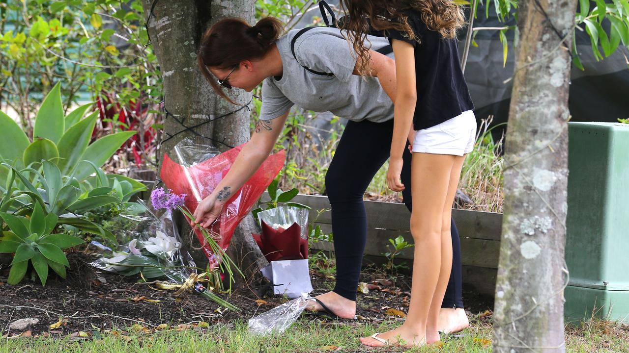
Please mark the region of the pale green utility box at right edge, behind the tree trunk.
POLYGON ((568 129, 565 317, 629 323, 629 124, 568 129))

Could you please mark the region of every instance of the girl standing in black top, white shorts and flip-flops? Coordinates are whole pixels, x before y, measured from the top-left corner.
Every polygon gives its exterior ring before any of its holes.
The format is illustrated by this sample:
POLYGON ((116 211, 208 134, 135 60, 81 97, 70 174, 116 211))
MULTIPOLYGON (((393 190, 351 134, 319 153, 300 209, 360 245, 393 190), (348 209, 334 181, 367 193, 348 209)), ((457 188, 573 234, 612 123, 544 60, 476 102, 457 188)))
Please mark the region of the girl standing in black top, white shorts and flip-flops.
POLYGON ((437 342, 438 315, 452 268, 451 214, 465 155, 472 151, 476 118, 459 64, 456 31, 464 24, 452 0, 341 0, 343 25, 370 70, 365 47, 369 23, 384 30, 396 58, 396 98, 387 183, 403 190, 400 173, 406 139, 413 141, 411 234, 415 239, 413 286, 405 322, 364 337, 371 347, 437 342), (412 125, 412 130, 411 130, 412 125), (409 133, 409 131, 411 131, 409 133))

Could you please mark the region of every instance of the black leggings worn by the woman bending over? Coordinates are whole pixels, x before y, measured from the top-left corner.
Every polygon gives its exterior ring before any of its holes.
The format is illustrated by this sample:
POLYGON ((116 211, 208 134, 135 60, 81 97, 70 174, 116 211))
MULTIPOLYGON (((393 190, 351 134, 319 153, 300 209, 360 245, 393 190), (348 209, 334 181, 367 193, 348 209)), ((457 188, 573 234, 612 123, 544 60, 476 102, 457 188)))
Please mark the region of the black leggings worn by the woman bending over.
MULTIPOLYGON (((332 209, 332 232, 337 259, 337 283, 333 291, 356 300, 360 268, 367 242, 367 214, 362 200, 376 172, 389 159, 393 121, 349 121, 341 136, 325 187, 332 209)), ((402 192, 411 210, 411 153, 404 149, 402 192)), ((459 232, 452 219, 452 273, 442 308, 462 308, 461 250, 459 232)))

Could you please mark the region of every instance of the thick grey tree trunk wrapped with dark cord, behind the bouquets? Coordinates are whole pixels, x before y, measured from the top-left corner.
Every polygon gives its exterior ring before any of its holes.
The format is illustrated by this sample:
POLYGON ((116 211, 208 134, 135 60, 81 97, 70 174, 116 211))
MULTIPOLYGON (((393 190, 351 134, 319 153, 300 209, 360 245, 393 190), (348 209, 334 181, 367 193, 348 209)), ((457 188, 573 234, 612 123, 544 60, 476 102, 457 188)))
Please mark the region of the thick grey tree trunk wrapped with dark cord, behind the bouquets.
MULTIPOLYGON (((214 94, 197 68, 196 53, 204 31, 216 21, 226 17, 253 21, 253 1, 143 0, 146 18, 155 1, 157 3, 148 21, 148 34, 164 80, 165 109, 186 126, 194 126, 240 108, 214 94)), ((247 104, 252 98, 250 93, 243 90, 232 90, 230 94, 236 102, 242 104, 247 104)), ((191 138, 200 144, 213 144, 225 151, 228 149, 226 145, 238 146, 250 137, 249 110, 246 108, 195 129, 196 133, 206 138, 190 131, 179 133, 184 127, 173 116, 167 116, 164 122, 165 136, 159 151, 160 161, 164 153, 169 153, 183 138, 191 138), (169 139, 169 136, 175 134, 169 139)), ((180 234, 189 234, 190 228, 181 215, 178 224, 181 225, 180 234)), ((256 232, 256 225, 252 217, 248 216, 234 233, 229 250, 231 256, 238 256, 233 259, 240 265, 247 280, 259 278, 259 266, 266 261, 253 241, 252 232, 256 232)), ((196 237, 182 236, 182 239, 187 243, 197 266, 205 267, 208 259, 203 251, 195 250, 200 246, 196 237)))

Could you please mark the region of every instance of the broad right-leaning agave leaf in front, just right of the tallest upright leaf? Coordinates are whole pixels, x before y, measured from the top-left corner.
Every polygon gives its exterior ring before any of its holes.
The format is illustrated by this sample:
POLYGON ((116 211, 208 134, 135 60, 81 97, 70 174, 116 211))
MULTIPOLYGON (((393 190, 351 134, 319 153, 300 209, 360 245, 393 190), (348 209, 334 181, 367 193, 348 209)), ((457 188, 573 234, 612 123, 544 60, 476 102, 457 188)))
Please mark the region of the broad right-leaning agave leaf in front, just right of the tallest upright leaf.
POLYGON ((94 131, 97 117, 98 112, 93 112, 82 121, 74 124, 72 128, 69 128, 60 139, 57 144, 60 158, 57 165, 62 174, 69 174, 81 160, 81 156, 86 151, 87 144, 89 144, 92 138, 92 131, 94 131))

